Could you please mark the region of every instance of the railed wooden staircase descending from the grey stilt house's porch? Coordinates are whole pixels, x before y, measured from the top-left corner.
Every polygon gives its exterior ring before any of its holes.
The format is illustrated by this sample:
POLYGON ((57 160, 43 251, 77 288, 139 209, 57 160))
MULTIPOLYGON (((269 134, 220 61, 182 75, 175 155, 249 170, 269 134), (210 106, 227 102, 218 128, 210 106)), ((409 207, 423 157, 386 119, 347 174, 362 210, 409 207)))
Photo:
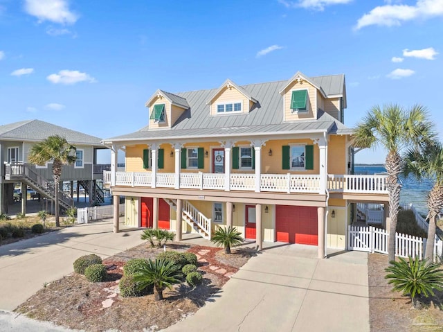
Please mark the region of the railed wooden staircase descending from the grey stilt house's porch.
MULTIPOLYGON (((19 180, 33 188, 40 195, 55 200, 55 184, 44 179, 26 164, 6 164, 5 180, 19 180)), ((58 201, 60 207, 69 209, 73 206, 73 200, 69 195, 58 189, 58 201)))

